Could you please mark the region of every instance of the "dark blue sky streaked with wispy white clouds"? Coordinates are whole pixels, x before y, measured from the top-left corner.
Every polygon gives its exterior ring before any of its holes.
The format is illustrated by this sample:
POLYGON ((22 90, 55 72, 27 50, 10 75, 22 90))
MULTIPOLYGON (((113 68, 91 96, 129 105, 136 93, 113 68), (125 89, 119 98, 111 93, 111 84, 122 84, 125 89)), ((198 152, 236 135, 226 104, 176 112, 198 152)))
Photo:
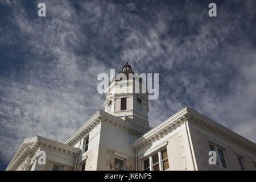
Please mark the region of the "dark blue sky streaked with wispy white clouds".
POLYGON ((0 169, 24 138, 64 142, 99 73, 159 73, 154 127, 185 106, 256 142, 256 2, 0 0, 0 169), (46 17, 38 3, 46 3, 46 17), (209 3, 217 17, 209 17, 209 3))

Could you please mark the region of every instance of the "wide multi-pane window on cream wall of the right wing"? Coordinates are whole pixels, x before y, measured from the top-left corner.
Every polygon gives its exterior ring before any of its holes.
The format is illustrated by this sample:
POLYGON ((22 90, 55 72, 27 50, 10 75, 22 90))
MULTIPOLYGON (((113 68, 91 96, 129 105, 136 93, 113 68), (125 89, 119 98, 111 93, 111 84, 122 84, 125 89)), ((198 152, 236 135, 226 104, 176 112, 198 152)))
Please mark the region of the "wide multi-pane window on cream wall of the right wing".
POLYGON ((166 171, 169 168, 167 150, 157 152, 143 161, 144 171, 166 171))

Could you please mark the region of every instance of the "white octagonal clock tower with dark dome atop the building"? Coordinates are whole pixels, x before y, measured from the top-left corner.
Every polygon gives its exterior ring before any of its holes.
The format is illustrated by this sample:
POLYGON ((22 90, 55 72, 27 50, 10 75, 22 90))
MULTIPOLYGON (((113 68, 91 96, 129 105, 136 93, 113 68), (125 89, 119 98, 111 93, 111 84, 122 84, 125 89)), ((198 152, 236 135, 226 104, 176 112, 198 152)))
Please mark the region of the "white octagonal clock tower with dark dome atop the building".
POLYGON ((109 79, 109 87, 105 90, 105 111, 148 126, 148 93, 144 80, 146 76, 134 73, 126 63, 121 72, 109 79))

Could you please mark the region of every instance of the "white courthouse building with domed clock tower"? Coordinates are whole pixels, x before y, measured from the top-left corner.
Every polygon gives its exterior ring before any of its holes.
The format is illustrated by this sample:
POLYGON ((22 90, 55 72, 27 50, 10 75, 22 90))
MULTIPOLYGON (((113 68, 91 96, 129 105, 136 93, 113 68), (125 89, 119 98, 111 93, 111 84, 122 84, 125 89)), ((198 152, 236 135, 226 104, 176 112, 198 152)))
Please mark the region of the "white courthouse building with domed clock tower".
POLYGON ((105 111, 98 110, 64 143, 24 139, 6 170, 256 170, 255 143, 189 107, 150 127, 147 93, 113 92, 135 88, 137 79, 122 79, 121 73, 133 73, 131 66, 126 63, 110 78, 105 111), (122 82, 131 84, 121 87, 122 82), (208 162, 213 150, 215 165, 208 162), (38 162, 40 151, 45 164, 38 162))

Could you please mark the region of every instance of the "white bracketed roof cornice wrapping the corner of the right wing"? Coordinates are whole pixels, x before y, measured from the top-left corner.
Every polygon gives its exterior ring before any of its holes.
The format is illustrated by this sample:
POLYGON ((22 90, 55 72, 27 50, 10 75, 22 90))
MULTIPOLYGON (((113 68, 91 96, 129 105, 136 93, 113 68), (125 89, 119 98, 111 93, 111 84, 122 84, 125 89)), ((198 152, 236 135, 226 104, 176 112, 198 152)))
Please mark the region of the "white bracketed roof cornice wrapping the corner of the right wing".
MULTIPOLYGON (((155 140, 158 140, 164 135, 170 133, 174 129, 180 126, 183 121, 188 121, 189 123, 196 123, 200 127, 204 127, 205 130, 208 130, 215 135, 218 135, 222 138, 226 138, 233 142, 234 144, 249 150, 250 152, 256 153, 256 144, 251 142, 250 140, 234 133, 232 130, 227 129, 226 127, 214 122, 212 119, 205 117, 204 115, 197 113, 197 111, 184 107, 176 114, 172 115, 170 118, 166 119, 160 123, 160 125, 156 126, 154 129, 148 131, 146 134, 142 135, 139 139, 135 140, 131 143, 131 146, 134 150, 138 150, 146 146, 148 143, 152 143, 155 140)), ((218 142, 214 142, 217 143, 218 142)), ((220 144, 222 147, 222 144, 220 144)), ((226 148, 226 147, 225 147, 226 148)))

